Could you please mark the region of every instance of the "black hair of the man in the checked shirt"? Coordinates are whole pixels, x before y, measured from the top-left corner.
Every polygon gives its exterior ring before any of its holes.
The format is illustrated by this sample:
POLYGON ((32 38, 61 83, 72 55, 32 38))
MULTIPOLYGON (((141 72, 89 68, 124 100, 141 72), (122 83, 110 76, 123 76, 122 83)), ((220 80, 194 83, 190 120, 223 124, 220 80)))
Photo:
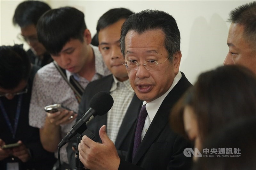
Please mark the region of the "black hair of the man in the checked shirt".
POLYGON ((113 8, 105 12, 97 23, 97 34, 100 32, 101 29, 106 28, 107 26, 110 26, 120 19, 127 19, 130 15, 132 15, 134 12, 126 9, 126 8, 113 8))

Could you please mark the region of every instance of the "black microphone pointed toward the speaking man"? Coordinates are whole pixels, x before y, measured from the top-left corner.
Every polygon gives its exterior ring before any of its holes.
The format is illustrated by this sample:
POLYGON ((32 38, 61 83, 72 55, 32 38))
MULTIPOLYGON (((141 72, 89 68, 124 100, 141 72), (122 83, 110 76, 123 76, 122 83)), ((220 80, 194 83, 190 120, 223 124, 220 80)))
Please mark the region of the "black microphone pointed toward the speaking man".
POLYGON ((89 110, 72 126, 72 129, 63 137, 58 146, 61 148, 77 133, 82 134, 87 129, 86 124, 96 115, 106 114, 113 106, 113 103, 114 100, 109 93, 102 91, 95 94, 90 101, 89 110))

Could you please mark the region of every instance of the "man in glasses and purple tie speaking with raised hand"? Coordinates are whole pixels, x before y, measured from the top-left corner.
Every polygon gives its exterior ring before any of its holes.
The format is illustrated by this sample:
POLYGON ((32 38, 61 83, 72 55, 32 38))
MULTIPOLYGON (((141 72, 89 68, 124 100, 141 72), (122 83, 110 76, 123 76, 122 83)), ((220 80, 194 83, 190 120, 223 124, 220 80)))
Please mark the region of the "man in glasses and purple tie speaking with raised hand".
POLYGON ((168 124, 173 104, 191 85, 180 67, 180 31, 175 19, 157 10, 131 15, 121 30, 121 52, 131 86, 143 101, 126 160, 118 157, 106 126, 102 144, 84 136, 79 158, 89 169, 189 169, 190 144, 168 124), (144 119, 142 119, 144 117, 144 119))

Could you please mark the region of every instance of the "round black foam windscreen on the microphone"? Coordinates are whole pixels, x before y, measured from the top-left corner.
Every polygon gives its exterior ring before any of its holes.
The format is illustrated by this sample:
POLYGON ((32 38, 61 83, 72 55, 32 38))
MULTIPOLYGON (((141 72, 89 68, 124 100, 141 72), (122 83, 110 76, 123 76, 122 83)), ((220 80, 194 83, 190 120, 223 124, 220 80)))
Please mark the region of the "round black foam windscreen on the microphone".
POLYGON ((113 106, 114 100, 108 92, 98 92, 95 94, 89 106, 92 107, 98 115, 106 114, 113 106))

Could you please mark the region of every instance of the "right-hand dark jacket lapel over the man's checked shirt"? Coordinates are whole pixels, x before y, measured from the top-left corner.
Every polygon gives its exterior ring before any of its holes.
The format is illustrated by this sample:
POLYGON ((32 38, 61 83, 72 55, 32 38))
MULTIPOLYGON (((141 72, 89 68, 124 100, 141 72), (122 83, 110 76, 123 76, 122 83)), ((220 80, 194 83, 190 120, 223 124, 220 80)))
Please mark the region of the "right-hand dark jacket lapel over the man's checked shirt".
POLYGON ((132 101, 126 111, 123 122, 120 126, 116 137, 116 148, 119 148, 123 143, 127 133, 129 133, 130 129, 133 127, 134 123, 137 120, 137 116, 140 112, 140 108, 142 105, 142 101, 138 99, 138 97, 134 94, 132 101))

